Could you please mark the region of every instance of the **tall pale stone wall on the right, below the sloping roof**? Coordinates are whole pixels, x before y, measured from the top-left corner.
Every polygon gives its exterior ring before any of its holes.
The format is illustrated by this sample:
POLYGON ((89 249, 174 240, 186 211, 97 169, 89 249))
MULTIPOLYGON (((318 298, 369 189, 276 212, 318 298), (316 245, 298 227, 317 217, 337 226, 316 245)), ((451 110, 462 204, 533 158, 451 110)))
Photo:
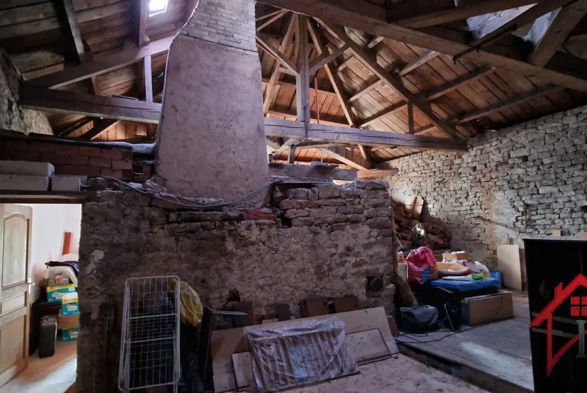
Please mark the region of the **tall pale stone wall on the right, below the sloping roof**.
POLYGON ((587 230, 587 107, 473 139, 466 153, 390 162, 390 196, 421 196, 451 231, 453 249, 496 267, 498 244, 587 230))

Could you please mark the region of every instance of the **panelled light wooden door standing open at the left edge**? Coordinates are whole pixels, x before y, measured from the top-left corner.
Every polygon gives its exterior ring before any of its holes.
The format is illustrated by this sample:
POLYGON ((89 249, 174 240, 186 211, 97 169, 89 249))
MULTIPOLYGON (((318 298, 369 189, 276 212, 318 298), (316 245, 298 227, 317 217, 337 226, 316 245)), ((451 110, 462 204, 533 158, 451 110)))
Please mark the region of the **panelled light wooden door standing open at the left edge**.
POLYGON ((31 207, 0 204, 0 386, 29 358, 31 207))

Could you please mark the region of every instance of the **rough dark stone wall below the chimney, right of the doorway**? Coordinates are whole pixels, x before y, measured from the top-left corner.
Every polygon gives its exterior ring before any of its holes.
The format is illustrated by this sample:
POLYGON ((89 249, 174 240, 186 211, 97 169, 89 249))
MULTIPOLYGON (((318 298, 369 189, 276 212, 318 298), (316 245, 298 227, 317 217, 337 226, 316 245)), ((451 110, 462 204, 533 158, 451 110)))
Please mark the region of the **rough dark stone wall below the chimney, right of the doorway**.
POLYGON ((312 295, 355 295, 362 307, 382 306, 380 297, 367 298, 366 284, 374 276, 390 283, 387 183, 291 187, 299 185, 279 185, 264 211, 194 211, 112 190, 83 204, 77 391, 105 383, 95 373, 105 361, 95 358, 107 340, 100 339, 103 310, 120 303, 129 277, 178 275, 212 309, 236 290, 256 315, 288 303, 299 316, 299 303, 312 295))

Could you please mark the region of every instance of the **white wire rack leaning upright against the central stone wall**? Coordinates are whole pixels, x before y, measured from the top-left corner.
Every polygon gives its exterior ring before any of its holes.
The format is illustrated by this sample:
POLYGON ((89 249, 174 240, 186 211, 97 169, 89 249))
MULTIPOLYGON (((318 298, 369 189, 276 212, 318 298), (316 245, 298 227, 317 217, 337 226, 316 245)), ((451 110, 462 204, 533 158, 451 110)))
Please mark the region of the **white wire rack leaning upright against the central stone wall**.
MULTIPOLYGON (((129 278, 124 286, 119 389, 180 380, 180 283, 177 276, 129 278)), ((170 390, 168 390, 170 391, 170 390)))

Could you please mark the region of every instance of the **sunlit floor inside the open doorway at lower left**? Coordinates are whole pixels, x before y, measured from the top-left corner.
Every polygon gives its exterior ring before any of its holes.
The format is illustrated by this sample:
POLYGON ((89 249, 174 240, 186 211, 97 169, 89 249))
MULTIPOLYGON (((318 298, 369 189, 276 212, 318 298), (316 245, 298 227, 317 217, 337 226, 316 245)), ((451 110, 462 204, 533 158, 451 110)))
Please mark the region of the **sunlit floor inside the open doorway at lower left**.
POLYGON ((29 365, 21 374, 0 388, 0 393, 64 393, 75 382, 75 341, 57 341, 55 355, 29 357, 29 365))

